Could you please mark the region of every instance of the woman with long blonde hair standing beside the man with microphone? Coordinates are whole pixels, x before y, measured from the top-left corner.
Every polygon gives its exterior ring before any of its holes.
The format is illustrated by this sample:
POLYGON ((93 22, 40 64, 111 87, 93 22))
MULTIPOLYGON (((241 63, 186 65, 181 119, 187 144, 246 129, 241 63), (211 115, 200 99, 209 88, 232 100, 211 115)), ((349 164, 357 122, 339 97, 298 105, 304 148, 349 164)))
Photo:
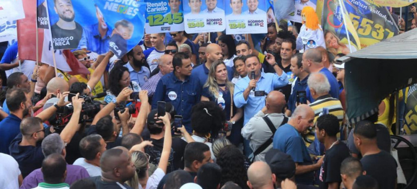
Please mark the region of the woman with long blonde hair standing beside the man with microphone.
POLYGON ((203 86, 201 101, 211 101, 222 108, 226 114, 228 127, 224 131, 227 132, 227 138, 232 144, 238 146, 243 141, 240 134, 243 123, 238 122, 243 116, 243 109, 234 106, 233 90, 234 84, 227 78, 226 64, 222 61, 213 62, 207 81, 203 86))

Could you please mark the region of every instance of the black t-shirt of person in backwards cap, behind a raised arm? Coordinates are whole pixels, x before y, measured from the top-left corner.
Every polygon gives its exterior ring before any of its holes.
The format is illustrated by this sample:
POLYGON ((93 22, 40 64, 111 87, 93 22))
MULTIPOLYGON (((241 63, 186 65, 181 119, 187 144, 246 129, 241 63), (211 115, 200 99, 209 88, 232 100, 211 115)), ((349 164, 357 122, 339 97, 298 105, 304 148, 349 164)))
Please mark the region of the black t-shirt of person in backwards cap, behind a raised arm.
MULTIPOLYGON (((159 140, 151 139, 153 147, 146 147, 145 153, 148 153, 150 156, 149 162, 158 166, 159 159, 161 157, 162 148, 164 145, 164 138, 161 138, 159 140)), ((166 169, 167 173, 170 173, 172 171, 175 171, 177 169, 183 169, 184 168, 184 150, 187 146, 187 142, 180 138, 173 138, 172 139, 172 146, 171 146, 171 154, 168 158, 168 166, 166 169)))

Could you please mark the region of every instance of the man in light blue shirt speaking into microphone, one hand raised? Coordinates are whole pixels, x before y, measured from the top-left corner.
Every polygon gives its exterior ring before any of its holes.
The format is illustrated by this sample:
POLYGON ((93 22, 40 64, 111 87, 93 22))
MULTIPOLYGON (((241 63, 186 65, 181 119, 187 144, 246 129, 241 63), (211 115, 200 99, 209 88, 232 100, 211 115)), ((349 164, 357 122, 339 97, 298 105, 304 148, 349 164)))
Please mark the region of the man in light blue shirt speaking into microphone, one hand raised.
MULTIPOLYGON (((234 86, 234 104, 237 108, 244 107, 243 125, 262 110, 265 106, 265 97, 270 91, 288 84, 287 75, 276 64, 274 56, 266 53, 265 59, 274 68, 274 74, 262 72, 258 56, 250 54, 245 57, 246 71, 250 74, 240 79, 234 86)), ((244 153, 247 157, 252 153, 249 141, 246 140, 244 153)))

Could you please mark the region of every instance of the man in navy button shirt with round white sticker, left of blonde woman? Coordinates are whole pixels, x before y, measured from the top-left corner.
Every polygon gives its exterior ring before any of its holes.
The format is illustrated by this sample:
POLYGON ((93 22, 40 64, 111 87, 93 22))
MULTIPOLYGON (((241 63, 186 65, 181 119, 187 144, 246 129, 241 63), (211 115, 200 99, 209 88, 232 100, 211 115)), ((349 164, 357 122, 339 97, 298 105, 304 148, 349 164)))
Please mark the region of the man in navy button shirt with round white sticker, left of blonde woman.
POLYGON ((174 72, 159 80, 152 99, 152 109, 157 108, 158 101, 171 102, 178 115, 183 116, 183 124, 188 132, 191 128, 191 108, 201 97, 198 78, 191 75, 191 59, 186 53, 175 54, 172 65, 174 72))

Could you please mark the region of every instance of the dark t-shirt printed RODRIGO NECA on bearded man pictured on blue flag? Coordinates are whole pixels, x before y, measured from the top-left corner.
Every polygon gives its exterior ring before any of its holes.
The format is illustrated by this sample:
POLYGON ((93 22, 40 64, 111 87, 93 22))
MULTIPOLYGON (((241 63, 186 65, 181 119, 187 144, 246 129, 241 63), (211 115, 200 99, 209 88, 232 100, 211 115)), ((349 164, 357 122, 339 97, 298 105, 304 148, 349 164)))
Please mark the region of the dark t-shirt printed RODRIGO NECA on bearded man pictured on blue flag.
POLYGON ((82 26, 76 23, 76 29, 64 30, 56 23, 51 26, 52 43, 56 49, 76 49, 82 36, 82 26))

